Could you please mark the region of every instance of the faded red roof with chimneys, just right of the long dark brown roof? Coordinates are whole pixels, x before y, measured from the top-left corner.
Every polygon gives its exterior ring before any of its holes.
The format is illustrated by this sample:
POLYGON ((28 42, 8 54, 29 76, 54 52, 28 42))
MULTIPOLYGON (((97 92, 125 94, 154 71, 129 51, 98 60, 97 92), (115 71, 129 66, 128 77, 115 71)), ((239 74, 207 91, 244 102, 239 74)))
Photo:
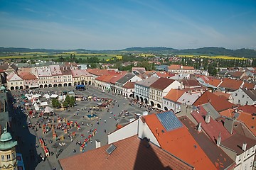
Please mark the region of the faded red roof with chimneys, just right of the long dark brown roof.
POLYGON ((226 130, 222 122, 217 122, 210 117, 210 123, 206 123, 205 116, 207 114, 203 106, 199 106, 198 111, 193 111, 191 115, 196 119, 198 123, 201 123, 203 130, 206 132, 210 140, 216 142, 218 135, 221 133, 221 140, 225 140, 230 137, 230 133, 226 130))

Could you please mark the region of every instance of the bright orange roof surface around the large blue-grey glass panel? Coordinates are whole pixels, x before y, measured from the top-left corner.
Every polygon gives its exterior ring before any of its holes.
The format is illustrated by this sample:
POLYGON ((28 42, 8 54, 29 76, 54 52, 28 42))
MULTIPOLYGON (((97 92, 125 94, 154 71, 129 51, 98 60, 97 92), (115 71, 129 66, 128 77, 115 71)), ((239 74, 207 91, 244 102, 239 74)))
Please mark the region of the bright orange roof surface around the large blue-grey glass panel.
POLYGON ((216 169, 185 126, 166 131, 156 114, 146 115, 145 121, 161 148, 188 162, 196 170, 216 169))

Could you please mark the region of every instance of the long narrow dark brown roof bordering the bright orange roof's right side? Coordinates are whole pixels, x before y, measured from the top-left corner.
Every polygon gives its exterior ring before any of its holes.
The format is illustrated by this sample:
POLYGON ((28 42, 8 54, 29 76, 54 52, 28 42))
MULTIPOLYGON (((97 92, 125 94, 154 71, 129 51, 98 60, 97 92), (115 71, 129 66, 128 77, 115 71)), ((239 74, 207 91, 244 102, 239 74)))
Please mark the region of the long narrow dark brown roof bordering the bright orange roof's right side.
POLYGON ((191 133, 196 142, 198 142, 198 145, 200 145, 203 151, 206 152, 206 155, 209 157, 210 161, 215 164, 217 169, 228 169, 230 166, 235 166, 235 162, 228 156, 228 154, 223 152, 220 147, 209 140, 205 133, 198 132, 196 130, 197 126, 191 120, 189 120, 186 116, 179 119, 183 125, 188 128, 188 131, 191 133))

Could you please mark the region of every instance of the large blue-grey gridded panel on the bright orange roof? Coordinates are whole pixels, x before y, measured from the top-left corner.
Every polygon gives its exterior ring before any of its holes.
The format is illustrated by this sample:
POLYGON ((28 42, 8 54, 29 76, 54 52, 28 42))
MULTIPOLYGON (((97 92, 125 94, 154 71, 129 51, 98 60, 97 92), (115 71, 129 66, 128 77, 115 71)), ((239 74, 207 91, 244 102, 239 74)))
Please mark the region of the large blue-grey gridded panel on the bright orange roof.
POLYGON ((180 120, 172 111, 166 111, 164 113, 157 113, 156 117, 167 131, 181 128, 183 125, 180 120))

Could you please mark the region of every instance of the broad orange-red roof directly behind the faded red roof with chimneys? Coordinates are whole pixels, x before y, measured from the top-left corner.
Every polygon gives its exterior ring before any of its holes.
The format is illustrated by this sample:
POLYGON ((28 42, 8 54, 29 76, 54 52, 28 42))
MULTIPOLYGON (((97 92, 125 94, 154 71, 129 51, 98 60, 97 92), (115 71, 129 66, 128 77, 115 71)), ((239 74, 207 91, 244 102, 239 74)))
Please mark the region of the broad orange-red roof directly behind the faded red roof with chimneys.
POLYGON ((221 96, 217 96, 209 91, 206 91, 200 96, 195 103, 194 106, 202 105, 204 103, 210 103, 216 111, 225 111, 228 108, 235 107, 235 104, 226 101, 226 98, 221 96))

